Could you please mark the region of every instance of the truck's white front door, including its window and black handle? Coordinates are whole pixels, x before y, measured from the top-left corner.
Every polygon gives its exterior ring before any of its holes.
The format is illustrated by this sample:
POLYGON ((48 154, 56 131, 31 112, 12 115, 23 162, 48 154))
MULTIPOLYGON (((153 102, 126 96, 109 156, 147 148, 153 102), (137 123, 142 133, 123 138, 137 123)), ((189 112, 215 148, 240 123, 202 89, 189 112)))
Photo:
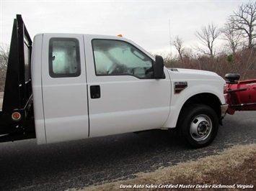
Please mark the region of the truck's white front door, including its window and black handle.
POLYGON ((84 36, 89 136, 156 129, 169 116, 169 75, 156 80, 153 58, 120 37, 84 36))

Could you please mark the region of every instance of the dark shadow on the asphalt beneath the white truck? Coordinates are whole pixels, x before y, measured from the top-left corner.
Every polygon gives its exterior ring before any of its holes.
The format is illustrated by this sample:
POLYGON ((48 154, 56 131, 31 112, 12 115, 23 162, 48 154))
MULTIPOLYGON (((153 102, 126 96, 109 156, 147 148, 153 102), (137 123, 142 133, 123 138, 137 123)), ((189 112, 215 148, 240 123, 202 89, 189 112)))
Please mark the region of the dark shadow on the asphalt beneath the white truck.
POLYGON ((157 130, 40 146, 33 139, 2 143, 0 190, 63 190, 69 182, 128 178, 167 166, 175 150, 186 149, 175 133, 157 130))

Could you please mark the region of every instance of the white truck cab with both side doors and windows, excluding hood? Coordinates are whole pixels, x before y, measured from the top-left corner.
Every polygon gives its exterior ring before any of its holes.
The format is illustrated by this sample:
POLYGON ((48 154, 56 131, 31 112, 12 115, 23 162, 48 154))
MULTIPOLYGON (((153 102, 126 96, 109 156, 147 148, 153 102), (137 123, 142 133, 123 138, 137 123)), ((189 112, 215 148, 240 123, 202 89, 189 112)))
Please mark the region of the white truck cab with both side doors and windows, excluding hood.
POLYGON ((38 34, 35 44, 40 45, 32 55, 39 144, 144 131, 167 121, 169 74, 165 70, 156 79, 154 57, 130 40, 38 34))

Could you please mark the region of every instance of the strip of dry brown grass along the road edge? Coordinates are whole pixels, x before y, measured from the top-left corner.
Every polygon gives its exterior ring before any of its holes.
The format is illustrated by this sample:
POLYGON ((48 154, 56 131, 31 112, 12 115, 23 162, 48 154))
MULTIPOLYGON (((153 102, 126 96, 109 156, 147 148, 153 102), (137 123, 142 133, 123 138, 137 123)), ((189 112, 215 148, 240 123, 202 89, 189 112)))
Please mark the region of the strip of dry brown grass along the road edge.
MULTIPOLYGON (((120 185, 254 185, 256 187, 256 144, 234 146, 218 155, 185 162, 136 179, 85 187, 80 190, 120 190, 120 185)), ((77 189, 72 189, 77 190, 77 189)), ((122 189, 129 190, 129 189, 122 189)), ((130 189, 131 190, 131 189, 130 189)), ((133 189, 134 190, 134 189, 133 189)), ((138 189, 163 190, 163 189, 138 189)), ((164 189, 167 190, 167 189, 164 189)), ((169 190, 169 189, 168 189, 169 190)), ((181 189, 180 189, 181 190, 181 189)), ((206 189, 197 189, 206 190, 206 189)), ((207 190, 214 190, 209 188, 207 190)), ((216 190, 216 189, 215 189, 216 190)), ((239 190, 239 189, 231 189, 239 190)), ((241 189, 240 189, 241 190, 241 189)))

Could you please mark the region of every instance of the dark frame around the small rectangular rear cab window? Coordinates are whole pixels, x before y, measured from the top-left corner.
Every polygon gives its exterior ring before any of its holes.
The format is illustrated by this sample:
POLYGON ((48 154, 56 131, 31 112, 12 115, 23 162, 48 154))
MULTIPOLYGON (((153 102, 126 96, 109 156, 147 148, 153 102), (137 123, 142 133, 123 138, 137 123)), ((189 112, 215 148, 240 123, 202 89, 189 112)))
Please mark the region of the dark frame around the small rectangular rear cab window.
POLYGON ((52 78, 74 78, 81 75, 81 58, 79 39, 72 37, 52 37, 49 39, 48 65, 49 75, 52 78), (73 41, 76 45, 76 73, 54 73, 53 72, 53 42, 70 42, 73 41))

